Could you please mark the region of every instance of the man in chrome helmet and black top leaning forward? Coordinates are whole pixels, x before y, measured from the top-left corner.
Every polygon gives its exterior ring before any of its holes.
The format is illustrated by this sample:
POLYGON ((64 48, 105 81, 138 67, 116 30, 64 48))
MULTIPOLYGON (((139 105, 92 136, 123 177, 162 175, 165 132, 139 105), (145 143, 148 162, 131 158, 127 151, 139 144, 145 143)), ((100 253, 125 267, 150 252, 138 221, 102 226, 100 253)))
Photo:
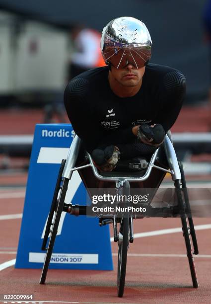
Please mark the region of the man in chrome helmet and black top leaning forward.
POLYGON ((151 45, 140 20, 110 21, 101 38, 107 66, 74 77, 65 90, 72 127, 101 170, 112 171, 125 159, 149 157, 180 112, 185 77, 149 64, 151 45))

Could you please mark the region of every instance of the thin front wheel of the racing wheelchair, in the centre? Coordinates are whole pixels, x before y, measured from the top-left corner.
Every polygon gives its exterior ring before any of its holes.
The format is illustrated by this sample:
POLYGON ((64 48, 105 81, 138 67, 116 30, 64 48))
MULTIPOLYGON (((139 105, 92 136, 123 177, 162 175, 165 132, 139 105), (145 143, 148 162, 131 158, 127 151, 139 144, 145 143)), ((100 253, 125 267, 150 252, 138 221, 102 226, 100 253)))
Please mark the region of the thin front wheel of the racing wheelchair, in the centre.
MULTIPOLYGON (((120 192, 119 192, 120 195, 130 194, 130 184, 128 181, 124 182, 123 188, 120 189, 120 192)), ((124 217, 122 217, 120 221, 119 240, 118 240, 118 269, 117 269, 118 297, 123 297, 124 294, 128 247, 129 247, 129 213, 124 213, 124 217)))

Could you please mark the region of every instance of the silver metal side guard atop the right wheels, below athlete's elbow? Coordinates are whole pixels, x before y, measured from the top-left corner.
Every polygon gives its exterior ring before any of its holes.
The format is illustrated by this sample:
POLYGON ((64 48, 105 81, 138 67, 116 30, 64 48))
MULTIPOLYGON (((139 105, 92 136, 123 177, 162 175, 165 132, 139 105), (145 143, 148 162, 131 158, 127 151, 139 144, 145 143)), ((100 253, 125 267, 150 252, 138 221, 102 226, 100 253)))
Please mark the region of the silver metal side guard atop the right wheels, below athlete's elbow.
POLYGON ((169 139, 169 137, 167 135, 165 136, 164 149, 165 149, 165 153, 167 156, 170 170, 172 171, 172 179, 174 181, 176 179, 181 179, 181 173, 180 173, 177 156, 174 151, 174 147, 171 143, 171 140, 169 139))

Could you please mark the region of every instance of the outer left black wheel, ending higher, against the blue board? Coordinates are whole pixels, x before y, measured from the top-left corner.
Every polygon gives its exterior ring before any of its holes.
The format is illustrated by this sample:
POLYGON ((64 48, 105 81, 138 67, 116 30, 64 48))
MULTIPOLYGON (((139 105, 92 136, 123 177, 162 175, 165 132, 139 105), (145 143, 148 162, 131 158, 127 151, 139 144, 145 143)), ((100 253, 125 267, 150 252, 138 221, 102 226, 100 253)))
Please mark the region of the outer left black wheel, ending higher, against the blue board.
POLYGON ((62 163, 61 163, 61 166, 60 166, 59 173, 58 173, 56 187, 55 187, 55 190, 54 190, 54 196, 53 196, 53 199, 52 199, 51 209, 50 209, 50 212, 49 212, 48 221, 47 221, 47 224, 46 224, 45 234, 44 234, 44 238, 43 238, 43 243, 42 243, 42 248, 41 248, 42 250, 47 250, 46 244, 47 244, 47 241, 48 241, 49 233, 51 232, 51 226, 53 225, 52 220, 53 220, 53 217, 54 217, 54 212, 57 211, 57 207, 58 207, 58 201, 57 200, 58 200, 59 191, 61 189, 62 173, 63 173, 64 167, 65 167, 65 162, 66 162, 66 160, 63 159, 62 163))

